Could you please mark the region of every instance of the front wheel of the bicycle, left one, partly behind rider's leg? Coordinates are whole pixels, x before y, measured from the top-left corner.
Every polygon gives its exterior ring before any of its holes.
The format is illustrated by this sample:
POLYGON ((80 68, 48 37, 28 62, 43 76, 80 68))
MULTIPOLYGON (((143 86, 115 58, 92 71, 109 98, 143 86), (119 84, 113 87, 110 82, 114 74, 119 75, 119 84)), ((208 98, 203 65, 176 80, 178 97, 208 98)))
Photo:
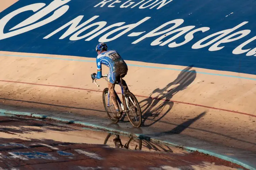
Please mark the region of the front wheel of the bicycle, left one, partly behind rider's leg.
POLYGON ((115 116, 115 106, 112 103, 111 98, 109 98, 109 105, 110 106, 108 106, 108 95, 109 95, 108 93, 109 93, 109 88, 105 88, 103 90, 103 93, 102 93, 103 105, 104 105, 106 114, 109 116, 109 119, 112 122, 117 123, 119 121, 119 119, 118 118, 114 118, 114 116, 115 116))

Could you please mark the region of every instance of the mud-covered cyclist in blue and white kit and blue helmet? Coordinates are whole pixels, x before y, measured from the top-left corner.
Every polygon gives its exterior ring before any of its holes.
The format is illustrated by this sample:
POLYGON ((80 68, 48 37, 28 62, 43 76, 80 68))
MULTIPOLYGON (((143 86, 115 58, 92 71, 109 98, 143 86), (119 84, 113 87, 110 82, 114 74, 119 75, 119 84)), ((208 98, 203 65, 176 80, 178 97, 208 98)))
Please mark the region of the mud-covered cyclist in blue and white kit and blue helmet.
MULTIPOLYGON (((97 63, 97 74, 91 74, 91 78, 100 79, 102 78, 101 64, 109 67, 108 74, 108 87, 111 95, 111 99, 116 109, 115 118, 120 118, 122 114, 120 113, 119 106, 117 103, 117 94, 115 92, 115 84, 120 83, 120 75, 122 78, 127 74, 128 67, 123 58, 115 51, 108 50, 108 46, 105 43, 100 43, 96 46, 96 52, 98 53, 96 63, 97 63)), ((126 91, 129 91, 126 82, 123 80, 123 86, 126 91)))

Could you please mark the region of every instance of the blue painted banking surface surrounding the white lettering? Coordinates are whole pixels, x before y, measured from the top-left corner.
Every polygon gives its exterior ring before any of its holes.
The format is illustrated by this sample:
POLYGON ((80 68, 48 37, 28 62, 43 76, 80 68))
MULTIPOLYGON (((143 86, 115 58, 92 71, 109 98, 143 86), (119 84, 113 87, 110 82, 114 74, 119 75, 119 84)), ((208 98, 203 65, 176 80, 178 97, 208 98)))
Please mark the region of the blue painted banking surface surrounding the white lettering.
MULTIPOLYGON (((66 3, 66 5, 69 5, 68 11, 58 19, 23 34, 0 40, 0 50, 96 57, 97 54, 95 52, 95 46, 99 43, 99 38, 105 33, 110 32, 110 30, 90 41, 85 41, 86 38, 71 41, 69 40, 70 36, 64 39, 59 39, 59 37, 65 33, 67 28, 48 39, 43 39, 43 37, 57 30, 59 27, 79 15, 84 15, 81 23, 95 15, 99 15, 100 17, 91 23, 106 21, 107 24, 105 27, 117 22, 126 22, 124 25, 136 23, 144 17, 151 17, 128 33, 108 42, 107 44, 109 48, 117 50, 125 60, 182 66, 194 65, 194 67, 200 68, 256 74, 255 56, 246 56, 246 53, 232 54, 234 48, 256 35, 254 22, 256 14, 254 6, 256 5, 256 2, 254 0, 173 0, 158 10, 156 7, 152 9, 149 7, 139 9, 139 5, 134 8, 120 8, 120 5, 127 0, 120 1, 122 2, 114 4, 115 7, 108 7, 108 5, 114 2, 114 0, 106 3, 103 7, 94 7, 100 2, 100 0, 71 0, 66 3), (150 45, 153 40, 161 35, 146 38, 137 44, 131 44, 144 34, 159 27, 163 23, 174 19, 184 19, 184 23, 178 28, 196 26, 194 29, 210 27, 210 30, 204 33, 195 33, 194 38, 191 41, 183 46, 175 48, 169 48, 168 44, 165 46, 150 45), (200 49, 191 48, 191 46, 193 46, 193 44, 198 40, 218 31, 233 28, 244 21, 248 21, 248 23, 234 32, 248 29, 251 30, 251 33, 241 39, 221 45, 225 46, 223 49, 218 51, 209 51, 208 49, 211 45, 200 49), (146 32, 136 37, 127 36, 132 32, 142 31, 146 32)), ((39 2, 43 2, 48 5, 52 0, 19 0, 17 3, 1 12, 0 18, 20 7, 39 2)), ((140 0, 133 0, 131 2, 140 2, 140 0)), ((35 13, 27 11, 16 15, 6 24, 4 27, 4 33, 11 32, 9 29, 33 14, 35 13)), ((53 12, 42 19, 45 19, 52 14, 53 12)), ((95 28, 96 27, 93 27, 85 31, 85 33, 95 28)), ((168 26, 166 28, 168 28, 168 26)), ((115 28, 112 28, 111 30, 113 29, 115 28)), ((184 35, 181 35, 174 41, 176 41, 176 43, 181 43, 184 41, 184 35)), ((166 40, 170 37, 171 36, 168 36, 166 40)), ((250 44, 246 45, 244 49, 255 47, 256 43, 255 41, 252 41, 250 44)))

